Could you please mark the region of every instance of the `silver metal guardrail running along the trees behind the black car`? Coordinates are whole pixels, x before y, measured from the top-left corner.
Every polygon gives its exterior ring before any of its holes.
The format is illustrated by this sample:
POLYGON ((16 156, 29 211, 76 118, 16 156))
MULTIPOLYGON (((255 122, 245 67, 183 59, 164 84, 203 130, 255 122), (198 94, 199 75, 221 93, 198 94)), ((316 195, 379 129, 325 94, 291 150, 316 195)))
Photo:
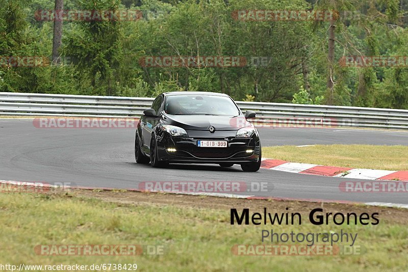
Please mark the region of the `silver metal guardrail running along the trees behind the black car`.
MULTIPOLYGON (((0 115, 138 118, 153 98, 1 93, 0 115)), ((408 111, 389 108, 238 101, 258 126, 351 126, 408 129, 408 111)))

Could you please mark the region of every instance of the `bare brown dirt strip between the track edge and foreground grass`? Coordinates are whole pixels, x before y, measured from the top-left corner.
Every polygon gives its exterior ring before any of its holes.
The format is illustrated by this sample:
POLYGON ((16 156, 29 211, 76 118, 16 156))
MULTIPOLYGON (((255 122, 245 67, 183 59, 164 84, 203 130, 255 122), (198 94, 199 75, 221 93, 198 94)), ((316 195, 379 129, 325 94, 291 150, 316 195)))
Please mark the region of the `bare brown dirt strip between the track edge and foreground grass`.
POLYGON ((374 207, 361 204, 338 204, 338 203, 317 203, 305 201, 276 201, 260 199, 234 199, 220 198, 210 196, 190 196, 163 193, 140 193, 140 192, 122 192, 122 191, 91 191, 75 189, 70 193, 77 197, 96 198, 102 201, 121 203, 124 205, 174 205, 189 208, 206 208, 230 210, 231 208, 249 208, 251 211, 262 212, 263 208, 268 211, 288 211, 299 212, 308 215, 314 208, 323 208, 324 212, 355 212, 357 214, 367 212, 379 213, 380 222, 390 222, 398 224, 408 223, 408 210, 374 207))

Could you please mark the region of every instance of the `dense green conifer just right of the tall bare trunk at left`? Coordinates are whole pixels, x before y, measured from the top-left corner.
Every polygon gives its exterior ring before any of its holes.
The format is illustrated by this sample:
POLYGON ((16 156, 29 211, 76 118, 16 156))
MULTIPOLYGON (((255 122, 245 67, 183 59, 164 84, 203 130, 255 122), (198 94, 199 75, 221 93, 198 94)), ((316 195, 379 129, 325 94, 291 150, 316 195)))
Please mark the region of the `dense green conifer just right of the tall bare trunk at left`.
MULTIPOLYGON (((114 14, 119 4, 107 0, 81 2, 81 9, 103 10, 114 14)), ((113 95, 120 80, 122 50, 122 23, 116 19, 73 22, 64 39, 64 53, 73 59, 82 72, 80 80, 90 80, 92 94, 113 95)))

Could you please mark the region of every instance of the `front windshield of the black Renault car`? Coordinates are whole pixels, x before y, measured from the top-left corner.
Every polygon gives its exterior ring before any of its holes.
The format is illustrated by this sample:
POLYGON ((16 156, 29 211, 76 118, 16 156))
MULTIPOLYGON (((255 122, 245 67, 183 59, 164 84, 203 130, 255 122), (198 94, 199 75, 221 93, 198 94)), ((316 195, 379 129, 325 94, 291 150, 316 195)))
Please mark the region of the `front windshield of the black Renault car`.
POLYGON ((170 115, 239 115, 230 97, 215 95, 170 95, 166 97, 164 111, 170 115))

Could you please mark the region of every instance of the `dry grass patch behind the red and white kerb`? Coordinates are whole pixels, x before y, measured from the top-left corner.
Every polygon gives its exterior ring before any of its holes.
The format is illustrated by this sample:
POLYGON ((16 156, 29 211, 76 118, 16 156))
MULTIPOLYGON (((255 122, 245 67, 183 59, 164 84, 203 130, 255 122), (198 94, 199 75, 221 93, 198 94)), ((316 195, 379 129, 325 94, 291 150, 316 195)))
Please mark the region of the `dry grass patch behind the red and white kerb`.
POLYGON ((408 170, 408 146, 276 146, 262 148, 262 156, 324 166, 408 170))

